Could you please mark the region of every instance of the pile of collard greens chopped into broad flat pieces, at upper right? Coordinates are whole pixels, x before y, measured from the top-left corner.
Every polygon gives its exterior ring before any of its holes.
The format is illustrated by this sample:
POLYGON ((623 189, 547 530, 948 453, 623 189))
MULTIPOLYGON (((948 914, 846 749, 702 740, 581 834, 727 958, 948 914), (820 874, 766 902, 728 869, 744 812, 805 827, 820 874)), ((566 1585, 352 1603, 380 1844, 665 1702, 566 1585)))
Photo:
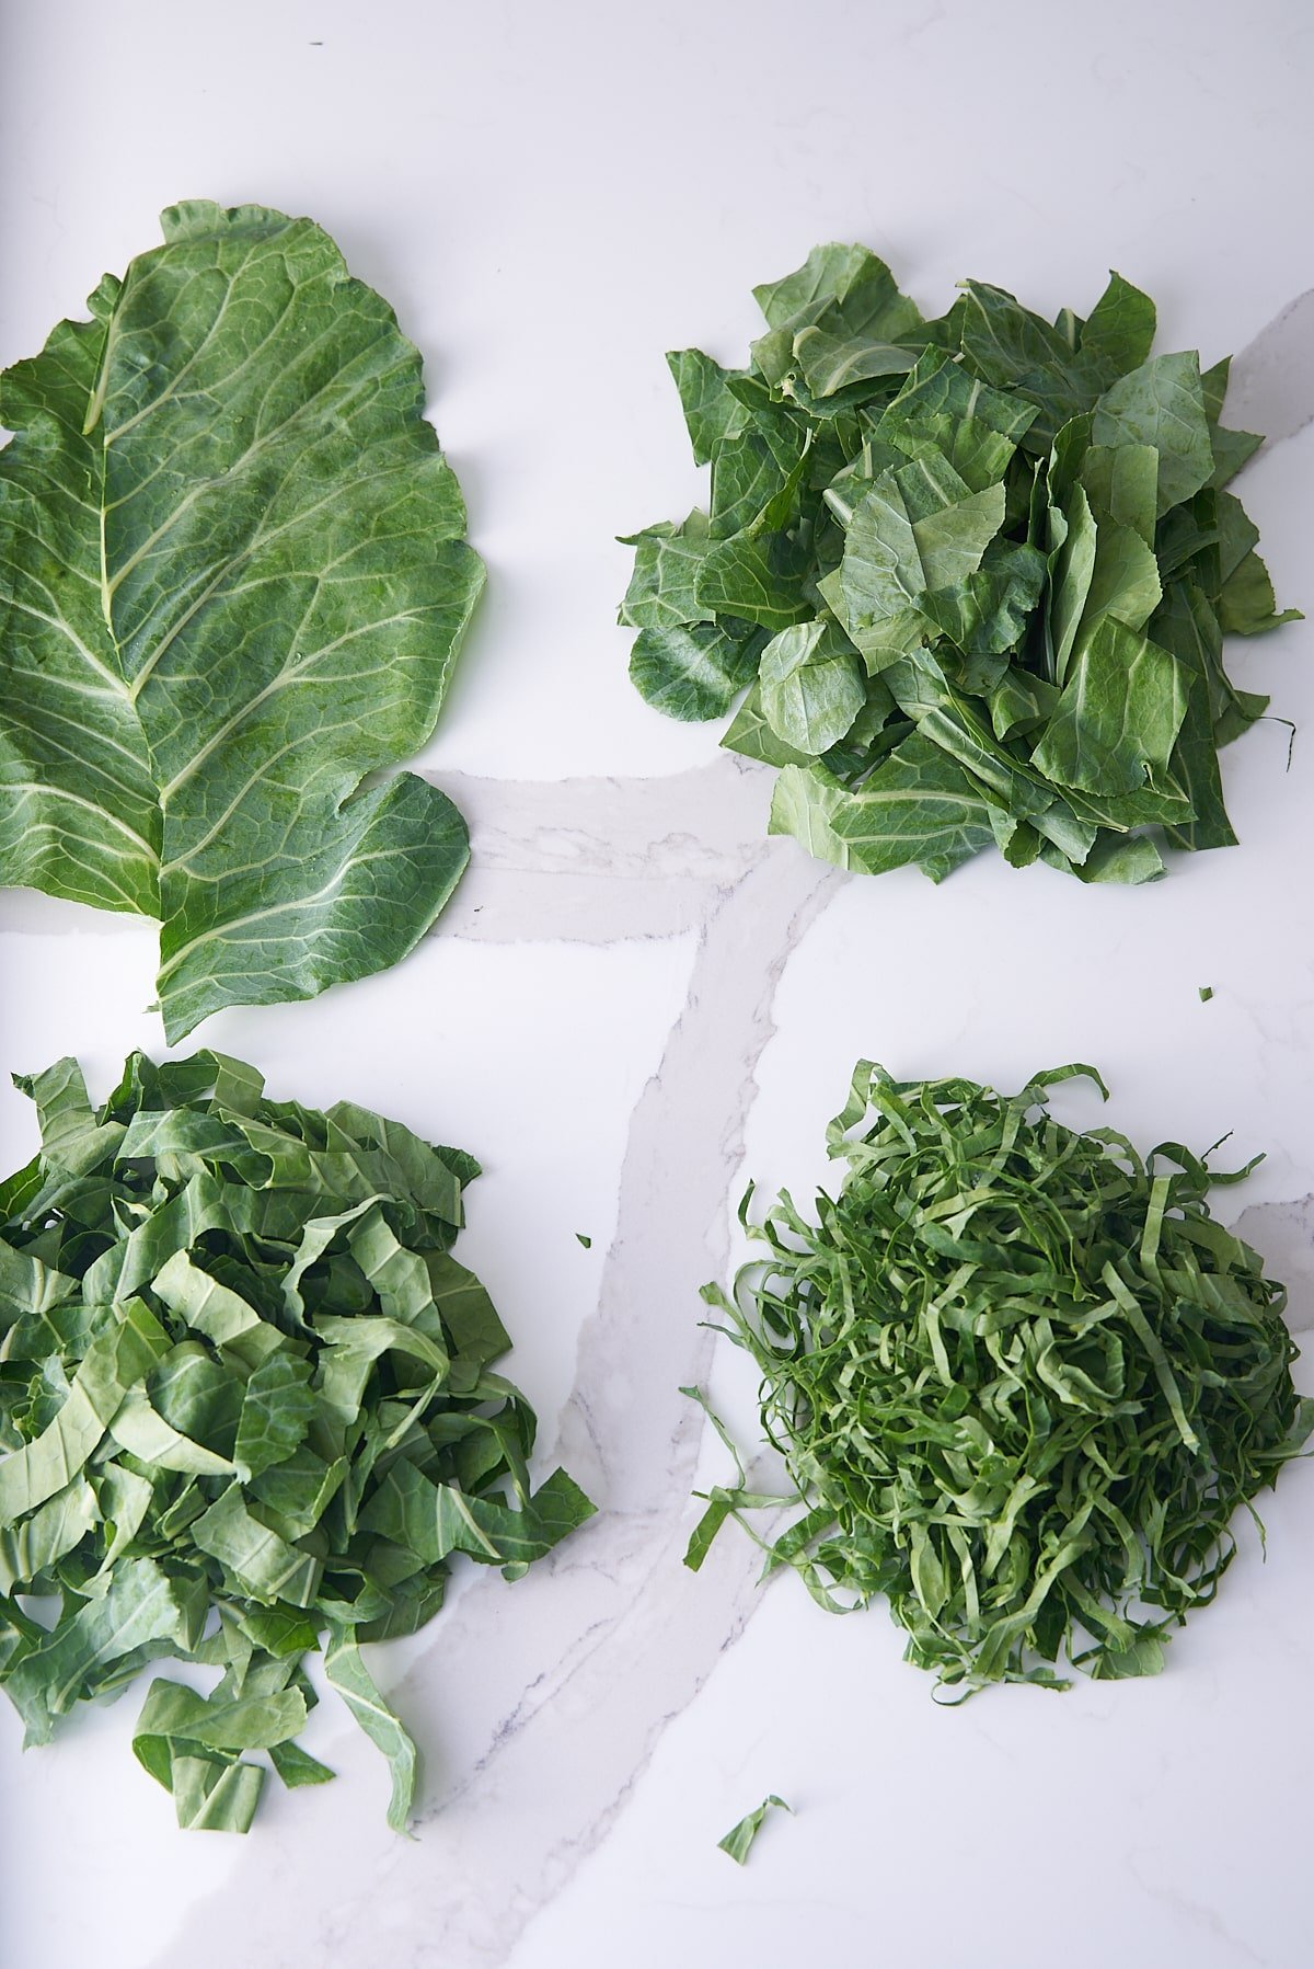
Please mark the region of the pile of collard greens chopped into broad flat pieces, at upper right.
POLYGON ((671 354, 708 512, 627 538, 629 675, 779 766, 771 831, 932 880, 995 843, 1086 882, 1235 841, 1218 750, 1267 705, 1224 634, 1275 612, 1225 490, 1227 360, 1151 356, 1117 274, 1050 325, 966 282, 923 321, 862 246, 753 289, 747 368, 671 354))

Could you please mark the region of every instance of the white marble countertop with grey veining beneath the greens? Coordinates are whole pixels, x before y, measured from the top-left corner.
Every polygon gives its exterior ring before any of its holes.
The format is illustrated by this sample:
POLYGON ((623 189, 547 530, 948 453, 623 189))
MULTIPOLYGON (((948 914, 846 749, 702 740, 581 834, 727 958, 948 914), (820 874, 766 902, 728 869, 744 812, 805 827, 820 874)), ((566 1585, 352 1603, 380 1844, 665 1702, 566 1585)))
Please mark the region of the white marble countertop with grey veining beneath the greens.
MULTIPOLYGON (((769 774, 716 727, 633 695, 612 536, 698 496, 663 350, 738 356, 751 284, 816 240, 866 240, 928 309, 964 274, 1082 307, 1117 266, 1161 347, 1245 350, 1231 419, 1279 441, 1243 494, 1279 599, 1314 612, 1308 8, 47 0, 0 33, 2 362, 187 195, 311 213, 425 352, 490 565, 423 760, 474 866, 397 971, 193 1044, 480 1156, 460 1254, 517 1337, 543 1467, 604 1506, 374 1650, 425 1752, 411 1841, 328 1703, 307 1745, 340 1780, 271 1788, 246 1841, 175 1831, 132 1695, 22 1760, 0 1705, 6 1969, 1304 1969, 1314 1473, 1265 1502, 1267 1563, 1239 1528, 1159 1680, 944 1711, 879 1609, 759 1591, 732 1532, 681 1567, 724 1453, 677 1388, 751 1424, 696 1288, 749 1172, 820 1175, 864 1053, 1001 1087, 1094 1059, 1145 1142, 1233 1128, 1269 1156, 1222 1209, 1314 1329, 1314 630, 1235 656, 1300 727, 1290 770, 1277 723, 1225 756, 1241 847, 1129 892, 995 857, 940 890, 846 880, 765 841, 769 774), (734 1869, 716 1839, 765 1792, 797 1815, 734 1869)), ((102 1093, 163 1046, 151 925, 10 892, 0 967, 6 1069, 73 1051, 102 1093)), ((6 1087, 2 1168, 31 1144, 6 1087)))

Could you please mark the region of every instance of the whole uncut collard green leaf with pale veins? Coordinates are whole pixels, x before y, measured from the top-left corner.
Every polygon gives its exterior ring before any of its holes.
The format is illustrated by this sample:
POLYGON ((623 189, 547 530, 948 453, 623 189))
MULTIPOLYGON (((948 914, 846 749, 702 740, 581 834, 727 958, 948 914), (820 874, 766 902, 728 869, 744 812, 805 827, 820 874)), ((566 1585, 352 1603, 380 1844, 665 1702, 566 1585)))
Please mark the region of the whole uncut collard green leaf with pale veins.
POLYGON ((0 880, 161 921, 171 1040, 419 941, 482 589, 419 352, 305 219, 207 201, 0 382, 0 880))

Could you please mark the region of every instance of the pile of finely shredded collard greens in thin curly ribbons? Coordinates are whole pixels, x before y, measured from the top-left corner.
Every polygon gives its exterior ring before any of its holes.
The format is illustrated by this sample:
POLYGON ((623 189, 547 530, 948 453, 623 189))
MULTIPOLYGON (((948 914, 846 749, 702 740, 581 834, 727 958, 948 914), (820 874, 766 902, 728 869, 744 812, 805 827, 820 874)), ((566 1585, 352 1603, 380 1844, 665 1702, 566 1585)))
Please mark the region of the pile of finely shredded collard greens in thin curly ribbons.
MULTIPOLYGON (((1060 1658, 1157 1672, 1214 1599, 1235 1508, 1314 1428, 1286 1294, 1208 1211, 1247 1170, 1060 1126, 1046 1087, 1074 1075, 1104 1091, 1090 1067, 1005 1099, 864 1061, 828 1130, 838 1195, 808 1223, 783 1193, 734 1300, 704 1294, 761 1370, 805 1506, 767 1571, 836 1611, 883 1593, 907 1660, 964 1693, 1066 1687, 1060 1658)), ((740 1469, 687 1563, 779 1502, 740 1469)))

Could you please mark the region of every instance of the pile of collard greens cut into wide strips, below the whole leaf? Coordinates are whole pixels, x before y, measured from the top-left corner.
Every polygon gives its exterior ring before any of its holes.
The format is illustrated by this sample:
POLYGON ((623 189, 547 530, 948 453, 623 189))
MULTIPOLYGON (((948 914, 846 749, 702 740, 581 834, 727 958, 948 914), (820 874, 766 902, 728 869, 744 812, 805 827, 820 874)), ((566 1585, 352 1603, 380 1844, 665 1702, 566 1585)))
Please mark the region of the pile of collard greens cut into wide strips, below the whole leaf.
POLYGON ((222 1053, 134 1053, 92 1112, 71 1059, 20 1081, 41 1150, 0 1189, 0 1683, 30 1745, 171 1656, 134 1750, 181 1825, 246 1831, 297 1745, 309 1650, 391 1766, 415 1747, 360 1642, 443 1605, 456 1552, 508 1579, 592 1514, 525 1469, 509 1341, 450 1256, 478 1164, 393 1120, 268 1101, 222 1053), (506 1496, 509 1487, 511 1500, 506 1496))

